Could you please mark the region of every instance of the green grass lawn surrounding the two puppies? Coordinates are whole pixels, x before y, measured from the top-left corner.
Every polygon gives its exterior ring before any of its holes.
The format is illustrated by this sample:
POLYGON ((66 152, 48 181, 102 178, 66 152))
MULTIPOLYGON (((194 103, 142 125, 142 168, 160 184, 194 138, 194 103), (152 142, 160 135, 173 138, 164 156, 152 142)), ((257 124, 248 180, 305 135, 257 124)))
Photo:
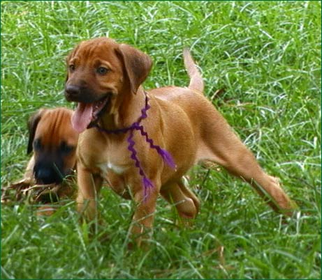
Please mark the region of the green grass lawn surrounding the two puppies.
POLYGON ((196 168, 196 220, 184 227, 160 199, 151 246, 128 251, 132 203, 110 189, 97 238, 73 201, 51 217, 2 205, 1 278, 321 279, 321 3, 1 1, 2 185, 22 177, 29 115, 72 106, 64 59, 97 36, 152 56, 145 88, 186 86, 182 49, 191 47, 205 94, 301 211, 284 221, 241 180, 196 168))

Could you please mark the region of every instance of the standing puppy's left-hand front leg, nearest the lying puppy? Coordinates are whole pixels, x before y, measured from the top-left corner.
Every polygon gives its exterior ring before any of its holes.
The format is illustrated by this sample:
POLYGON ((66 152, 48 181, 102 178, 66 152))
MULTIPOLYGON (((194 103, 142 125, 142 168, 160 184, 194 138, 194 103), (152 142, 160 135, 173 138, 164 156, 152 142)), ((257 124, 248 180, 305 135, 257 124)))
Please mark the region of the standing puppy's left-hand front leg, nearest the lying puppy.
POLYGON ((77 172, 77 210, 85 219, 92 221, 97 216, 97 196, 103 179, 98 174, 91 173, 81 163, 78 163, 77 172))

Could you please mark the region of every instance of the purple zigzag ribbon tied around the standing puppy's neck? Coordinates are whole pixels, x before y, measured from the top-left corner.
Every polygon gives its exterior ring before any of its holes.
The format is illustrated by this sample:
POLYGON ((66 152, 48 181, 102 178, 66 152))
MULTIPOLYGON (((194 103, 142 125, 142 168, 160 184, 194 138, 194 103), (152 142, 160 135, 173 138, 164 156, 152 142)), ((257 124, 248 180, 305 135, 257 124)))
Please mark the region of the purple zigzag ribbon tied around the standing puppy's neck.
POLYGON ((93 126, 96 127, 98 130, 108 133, 108 134, 121 134, 121 133, 129 133, 129 137, 126 139, 126 141, 129 143, 128 150, 131 152, 131 159, 135 162, 136 167, 139 170, 140 176, 142 177, 142 184, 144 186, 144 197, 147 198, 149 189, 151 189, 153 186, 153 183, 147 176, 145 175, 145 171, 143 171, 140 160, 138 159, 136 148, 134 146, 136 145, 136 142, 133 140, 133 133, 135 130, 140 131, 142 137, 145 137, 145 141, 149 143, 150 148, 155 149, 159 155, 161 155, 162 159, 168 166, 170 166, 172 169, 175 169, 176 165, 173 160, 173 157, 168 153, 166 150, 161 148, 158 145, 155 145, 153 142, 153 139, 149 138, 149 135, 145 131, 143 125, 141 125, 141 121, 145 118, 147 118, 147 110, 150 109, 149 106, 149 98, 147 97, 147 93, 145 92, 145 107, 141 110, 141 116, 138 118, 138 120, 133 123, 129 127, 121 128, 119 130, 106 130, 103 127, 98 126, 97 124, 94 124, 93 126))

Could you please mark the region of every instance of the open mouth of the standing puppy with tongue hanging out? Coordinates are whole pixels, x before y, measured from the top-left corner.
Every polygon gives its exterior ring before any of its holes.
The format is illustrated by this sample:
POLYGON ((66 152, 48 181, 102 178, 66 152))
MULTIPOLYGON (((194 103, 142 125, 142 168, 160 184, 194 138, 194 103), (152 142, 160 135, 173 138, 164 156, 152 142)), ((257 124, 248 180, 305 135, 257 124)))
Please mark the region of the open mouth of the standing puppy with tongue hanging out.
POLYGON ((71 123, 74 130, 77 132, 83 132, 89 127, 91 123, 94 123, 98 116, 108 106, 110 102, 110 94, 92 103, 78 102, 78 106, 73 112, 71 123))

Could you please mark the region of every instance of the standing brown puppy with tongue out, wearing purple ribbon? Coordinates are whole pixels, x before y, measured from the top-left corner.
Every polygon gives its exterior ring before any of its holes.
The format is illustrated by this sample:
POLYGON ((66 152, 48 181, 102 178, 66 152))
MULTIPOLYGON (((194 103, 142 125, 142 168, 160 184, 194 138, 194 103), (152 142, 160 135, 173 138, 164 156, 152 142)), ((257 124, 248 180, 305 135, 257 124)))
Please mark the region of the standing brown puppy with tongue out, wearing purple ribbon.
POLYGON ((78 210, 85 211, 88 219, 95 217, 96 195, 107 180, 115 192, 138 203, 131 224, 138 245, 152 228, 159 193, 175 203, 182 217, 196 217, 199 201, 184 185, 182 176, 193 164, 203 161, 220 164, 249 182, 258 193, 269 197, 268 203, 275 210, 291 215, 293 209, 278 180, 261 169, 204 97, 203 80, 188 50, 184 51, 184 63, 191 78, 187 88, 156 88, 146 93, 147 99, 140 85, 152 61, 138 49, 96 38, 81 42, 67 59, 65 95, 68 101, 78 102, 72 123, 82 132, 78 145, 78 210), (146 117, 142 117, 142 109, 146 117), (175 169, 145 141, 142 130, 133 128, 136 122, 149 139, 172 155, 175 169), (94 125, 100 128, 90 128, 94 125), (145 179, 153 187, 143 182, 145 179), (144 185, 149 187, 147 196, 144 185))

